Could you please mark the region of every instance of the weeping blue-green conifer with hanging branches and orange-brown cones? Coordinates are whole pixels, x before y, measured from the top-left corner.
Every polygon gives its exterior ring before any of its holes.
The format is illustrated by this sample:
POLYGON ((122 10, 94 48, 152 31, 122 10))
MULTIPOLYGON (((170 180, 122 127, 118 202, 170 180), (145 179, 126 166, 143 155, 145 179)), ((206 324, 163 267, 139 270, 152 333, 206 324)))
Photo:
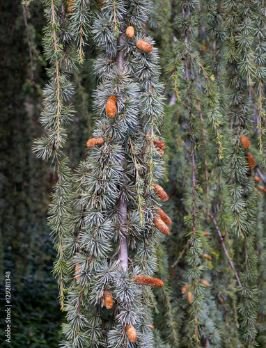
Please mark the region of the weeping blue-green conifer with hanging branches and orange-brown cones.
POLYGON ((45 1, 33 150, 58 175, 61 347, 265 346, 265 15, 260 0, 45 1), (70 168, 89 37, 93 135, 70 168))

